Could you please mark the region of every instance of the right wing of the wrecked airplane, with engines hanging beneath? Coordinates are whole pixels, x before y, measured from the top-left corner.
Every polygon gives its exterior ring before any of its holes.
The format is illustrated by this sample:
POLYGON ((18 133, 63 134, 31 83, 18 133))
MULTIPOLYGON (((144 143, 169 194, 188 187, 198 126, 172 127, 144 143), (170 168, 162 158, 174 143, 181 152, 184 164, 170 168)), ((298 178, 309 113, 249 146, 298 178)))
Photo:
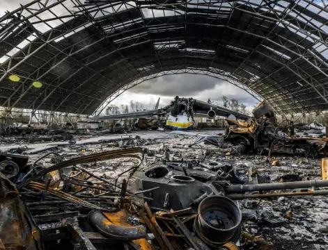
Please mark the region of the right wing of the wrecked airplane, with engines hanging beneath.
POLYGON ((205 101, 194 100, 194 113, 196 114, 207 114, 209 110, 214 110, 218 116, 228 117, 229 115, 234 115, 237 119, 249 119, 249 115, 244 115, 242 113, 235 112, 233 110, 228 110, 227 108, 222 108, 220 106, 207 103, 205 101))

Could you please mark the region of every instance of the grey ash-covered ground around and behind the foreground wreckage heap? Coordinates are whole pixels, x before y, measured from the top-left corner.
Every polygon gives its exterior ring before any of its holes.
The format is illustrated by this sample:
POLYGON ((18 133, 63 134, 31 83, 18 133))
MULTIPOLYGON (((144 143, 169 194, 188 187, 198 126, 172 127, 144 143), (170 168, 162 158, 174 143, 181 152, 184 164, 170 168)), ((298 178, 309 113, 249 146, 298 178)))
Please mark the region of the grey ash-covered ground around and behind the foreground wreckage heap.
MULTIPOLYGON (((153 165, 163 160, 164 149, 169 149, 170 160, 196 159, 232 161, 234 164, 244 163, 252 167, 253 172, 260 175, 268 174, 272 182, 279 182, 281 176, 296 174, 300 180, 306 181, 321 178, 320 159, 304 156, 274 156, 280 166, 272 166, 272 159, 266 155, 236 156, 231 153, 232 146, 228 143, 215 147, 211 144, 197 144, 188 147, 196 140, 194 134, 217 135, 223 131, 197 131, 191 135, 177 135, 166 131, 147 131, 120 135, 75 137, 76 143, 47 142, 26 144, 26 142, 3 142, 0 149, 3 152, 17 153, 29 156, 33 162, 45 153, 54 151, 61 154, 65 160, 90 153, 120 149, 122 147, 138 146, 148 149, 148 156, 143 165, 153 165), (137 138, 136 138, 137 135, 137 138), (121 138, 131 140, 121 140, 121 138), (118 139, 118 140, 114 140, 118 139), (114 140, 113 142, 98 142, 99 140, 114 140), (17 150, 18 149, 18 150, 17 150)), ((45 158, 43 165, 54 164, 51 158, 45 158)), ((125 158, 106 160, 97 164, 84 165, 86 169, 98 176, 114 179, 118 174, 134 165, 134 160, 125 158)), ((125 175, 121 176, 124 178, 125 175)), ((263 200, 240 201, 240 206, 249 211, 249 216, 243 216, 243 237, 240 249, 328 249, 328 208, 327 197, 278 197, 263 200), (274 215, 274 220, 264 221, 263 213, 274 215), (257 217, 257 219, 256 219, 257 217)))

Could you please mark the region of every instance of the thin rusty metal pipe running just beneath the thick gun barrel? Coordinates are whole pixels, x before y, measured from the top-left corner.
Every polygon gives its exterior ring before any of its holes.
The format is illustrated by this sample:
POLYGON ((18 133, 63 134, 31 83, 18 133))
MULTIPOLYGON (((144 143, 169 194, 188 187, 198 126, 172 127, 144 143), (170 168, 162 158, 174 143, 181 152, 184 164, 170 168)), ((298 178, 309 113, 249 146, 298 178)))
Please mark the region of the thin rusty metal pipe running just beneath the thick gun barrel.
POLYGON ((258 199, 258 198, 301 196, 301 195, 313 195, 313 196, 328 195, 328 190, 286 192, 286 193, 274 193, 274 194, 228 194, 226 195, 226 197, 233 200, 242 200, 242 199, 258 199))

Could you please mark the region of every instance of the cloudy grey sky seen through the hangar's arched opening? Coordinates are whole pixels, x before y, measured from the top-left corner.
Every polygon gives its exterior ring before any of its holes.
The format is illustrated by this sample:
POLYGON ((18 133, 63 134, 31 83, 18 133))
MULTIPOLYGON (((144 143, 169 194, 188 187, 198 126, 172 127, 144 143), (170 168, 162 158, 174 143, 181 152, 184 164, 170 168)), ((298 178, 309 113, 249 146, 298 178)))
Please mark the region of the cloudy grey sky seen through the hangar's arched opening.
POLYGON ((229 99, 237 99, 246 106, 253 108, 258 101, 246 91, 210 76, 193 74, 178 74, 162 76, 136 85, 127 90, 117 99, 112 101, 116 105, 128 104, 130 100, 139 101, 146 108, 153 108, 158 97, 161 97, 159 106, 165 106, 174 99, 175 96, 192 97, 201 101, 212 101, 226 96, 229 99))

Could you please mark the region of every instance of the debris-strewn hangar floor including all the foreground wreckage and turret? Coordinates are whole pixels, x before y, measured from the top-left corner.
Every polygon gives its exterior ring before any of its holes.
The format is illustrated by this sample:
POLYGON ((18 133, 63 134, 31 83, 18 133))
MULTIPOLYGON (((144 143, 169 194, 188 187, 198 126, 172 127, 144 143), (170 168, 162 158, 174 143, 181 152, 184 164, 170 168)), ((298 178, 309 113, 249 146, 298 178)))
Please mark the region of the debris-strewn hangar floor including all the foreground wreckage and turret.
MULTIPOLYGON (((3 248, 327 247, 328 192, 320 187, 328 183, 318 180, 320 160, 274 156, 267 162, 256 154, 227 155, 230 142, 189 147, 194 139, 147 131, 1 147, 15 154, 0 155, 0 213, 9 199, 10 210, 21 211, 32 228, 19 239, 0 231, 3 248)), ((3 221, 9 228, 17 215, 10 216, 3 221)))

